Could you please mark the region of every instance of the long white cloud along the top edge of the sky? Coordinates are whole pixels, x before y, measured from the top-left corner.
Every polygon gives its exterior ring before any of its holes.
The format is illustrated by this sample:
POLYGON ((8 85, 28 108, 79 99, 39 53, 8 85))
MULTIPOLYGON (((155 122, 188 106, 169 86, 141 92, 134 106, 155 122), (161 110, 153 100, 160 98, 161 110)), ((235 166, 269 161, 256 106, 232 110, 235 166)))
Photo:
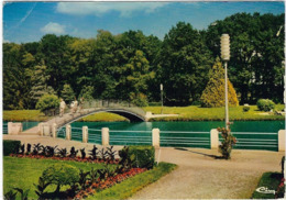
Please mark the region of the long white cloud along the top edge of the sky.
POLYGON ((133 12, 154 12, 165 7, 167 2, 59 2, 56 10, 59 13, 73 15, 102 15, 110 11, 120 12, 121 16, 130 16, 133 12))

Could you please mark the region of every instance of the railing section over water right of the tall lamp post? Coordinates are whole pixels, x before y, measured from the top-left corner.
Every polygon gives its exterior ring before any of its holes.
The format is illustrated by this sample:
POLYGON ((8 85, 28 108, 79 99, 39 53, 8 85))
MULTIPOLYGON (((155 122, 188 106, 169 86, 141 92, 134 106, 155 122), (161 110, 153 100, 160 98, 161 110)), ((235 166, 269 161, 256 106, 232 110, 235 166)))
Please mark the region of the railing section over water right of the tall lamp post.
MULTIPOLYGON (((268 149, 278 151, 277 133, 232 132, 237 137, 237 149, 268 149)), ((221 136, 219 137, 222 141, 221 136)))

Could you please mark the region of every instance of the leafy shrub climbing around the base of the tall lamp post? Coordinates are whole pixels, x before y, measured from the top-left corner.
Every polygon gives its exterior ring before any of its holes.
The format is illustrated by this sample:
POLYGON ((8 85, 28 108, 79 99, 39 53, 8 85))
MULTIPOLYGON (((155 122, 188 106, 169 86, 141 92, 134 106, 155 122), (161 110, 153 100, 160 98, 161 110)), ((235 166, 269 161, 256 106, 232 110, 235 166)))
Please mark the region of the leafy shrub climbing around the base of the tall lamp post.
POLYGON ((222 143, 219 145, 219 151, 224 159, 230 159, 231 151, 237 143, 237 138, 231 134, 229 129, 218 127, 218 131, 221 132, 223 138, 222 143))

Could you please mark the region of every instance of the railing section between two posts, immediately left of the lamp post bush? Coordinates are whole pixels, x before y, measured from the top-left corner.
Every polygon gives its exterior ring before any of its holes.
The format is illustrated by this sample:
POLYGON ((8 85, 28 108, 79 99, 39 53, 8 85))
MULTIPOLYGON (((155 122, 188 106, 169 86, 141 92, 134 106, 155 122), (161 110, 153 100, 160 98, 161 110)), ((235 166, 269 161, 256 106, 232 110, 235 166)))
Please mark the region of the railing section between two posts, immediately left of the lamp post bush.
POLYGON ((161 131, 160 145, 210 148, 210 132, 161 131))

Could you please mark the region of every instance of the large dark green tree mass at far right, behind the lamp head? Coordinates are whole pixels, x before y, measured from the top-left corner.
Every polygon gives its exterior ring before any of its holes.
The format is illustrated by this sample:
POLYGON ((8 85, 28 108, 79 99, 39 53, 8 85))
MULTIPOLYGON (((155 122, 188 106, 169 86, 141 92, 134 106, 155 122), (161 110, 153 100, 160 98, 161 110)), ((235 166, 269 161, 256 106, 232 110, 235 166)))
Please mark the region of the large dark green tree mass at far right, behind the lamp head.
POLYGON ((205 41, 213 57, 220 55, 221 34, 230 35, 229 77, 240 102, 254 103, 260 98, 283 101, 284 18, 237 13, 208 27, 205 41))

